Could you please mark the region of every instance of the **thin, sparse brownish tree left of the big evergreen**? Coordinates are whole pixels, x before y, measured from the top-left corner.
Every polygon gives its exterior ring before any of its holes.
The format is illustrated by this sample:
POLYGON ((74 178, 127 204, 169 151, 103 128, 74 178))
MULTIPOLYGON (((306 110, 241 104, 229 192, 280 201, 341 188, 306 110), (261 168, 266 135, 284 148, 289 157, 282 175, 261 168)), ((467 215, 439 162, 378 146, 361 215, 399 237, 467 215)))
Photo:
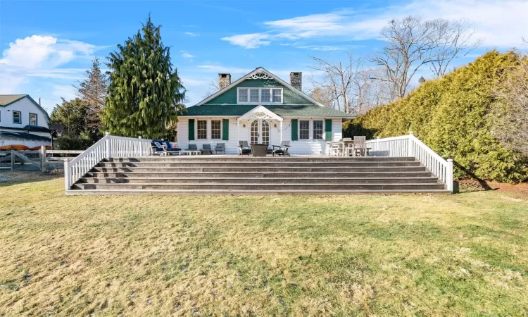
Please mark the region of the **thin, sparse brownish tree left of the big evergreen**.
POLYGON ((92 68, 86 71, 87 77, 79 82, 77 95, 89 109, 86 128, 91 135, 101 135, 101 118, 99 111, 103 108, 108 96, 108 77, 101 71, 101 61, 95 58, 92 68))

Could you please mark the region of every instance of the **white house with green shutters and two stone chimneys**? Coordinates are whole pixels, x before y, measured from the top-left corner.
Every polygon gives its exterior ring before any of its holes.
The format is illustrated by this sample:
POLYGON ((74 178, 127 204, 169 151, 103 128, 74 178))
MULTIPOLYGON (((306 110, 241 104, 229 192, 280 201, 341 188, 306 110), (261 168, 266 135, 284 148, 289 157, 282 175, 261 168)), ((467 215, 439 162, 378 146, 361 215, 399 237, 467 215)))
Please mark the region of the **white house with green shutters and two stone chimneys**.
POLYGON ((233 83, 230 74, 218 74, 218 82, 218 92, 178 116, 181 149, 224 143, 227 154, 237 154, 239 141, 289 141, 291 154, 325 154, 328 141, 341 139, 342 123, 354 118, 302 92, 302 73, 291 73, 287 83, 259 67, 233 83))

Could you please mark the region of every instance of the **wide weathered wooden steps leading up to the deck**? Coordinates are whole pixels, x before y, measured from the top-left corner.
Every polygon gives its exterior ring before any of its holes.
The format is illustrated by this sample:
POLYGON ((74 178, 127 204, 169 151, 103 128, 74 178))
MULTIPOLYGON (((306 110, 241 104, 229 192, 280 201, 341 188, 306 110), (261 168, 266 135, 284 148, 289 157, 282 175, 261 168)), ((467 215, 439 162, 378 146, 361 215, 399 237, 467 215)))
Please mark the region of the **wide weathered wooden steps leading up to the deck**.
POLYGON ((67 194, 447 193, 409 157, 139 157, 106 159, 67 194))

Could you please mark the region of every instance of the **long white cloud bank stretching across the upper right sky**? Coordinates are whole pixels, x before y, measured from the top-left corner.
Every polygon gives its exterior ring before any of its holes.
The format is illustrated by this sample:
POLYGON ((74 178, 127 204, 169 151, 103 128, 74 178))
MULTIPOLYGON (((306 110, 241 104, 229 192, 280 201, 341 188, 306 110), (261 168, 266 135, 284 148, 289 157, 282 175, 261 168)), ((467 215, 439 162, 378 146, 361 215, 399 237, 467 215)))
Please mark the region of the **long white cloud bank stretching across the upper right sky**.
POLYGON ((222 39, 234 45, 254 49, 287 39, 334 39, 338 41, 377 39, 379 31, 393 18, 422 15, 427 19, 467 19, 477 27, 475 39, 484 46, 519 46, 528 35, 526 0, 413 0, 403 6, 375 10, 344 9, 264 22, 266 32, 233 35, 222 39))

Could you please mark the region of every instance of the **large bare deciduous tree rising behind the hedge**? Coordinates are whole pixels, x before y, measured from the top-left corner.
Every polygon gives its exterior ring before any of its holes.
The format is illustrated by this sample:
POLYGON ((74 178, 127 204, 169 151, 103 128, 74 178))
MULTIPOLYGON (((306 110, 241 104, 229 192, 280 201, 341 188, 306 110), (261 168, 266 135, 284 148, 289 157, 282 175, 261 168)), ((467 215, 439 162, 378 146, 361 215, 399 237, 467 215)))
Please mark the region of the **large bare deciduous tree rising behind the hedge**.
POLYGON ((372 61, 384 70, 394 97, 404 97, 414 75, 422 66, 432 66, 436 76, 446 73, 451 61, 474 48, 470 38, 474 35, 470 23, 463 20, 452 23, 443 19, 422 20, 408 16, 403 20, 391 20, 384 27, 381 37, 387 42, 373 56, 372 61))

